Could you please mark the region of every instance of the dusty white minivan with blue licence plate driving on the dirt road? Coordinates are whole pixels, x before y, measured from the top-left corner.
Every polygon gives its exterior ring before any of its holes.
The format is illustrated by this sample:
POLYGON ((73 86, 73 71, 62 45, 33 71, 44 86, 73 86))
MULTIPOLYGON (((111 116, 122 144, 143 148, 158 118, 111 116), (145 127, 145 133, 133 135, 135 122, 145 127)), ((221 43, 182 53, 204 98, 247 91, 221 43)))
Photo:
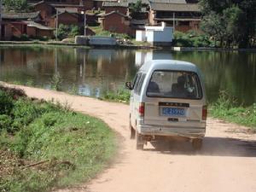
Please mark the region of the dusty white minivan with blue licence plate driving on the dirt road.
POLYGON ((199 69, 175 60, 148 61, 138 70, 131 90, 130 129, 137 149, 162 137, 188 138, 200 149, 206 133, 206 91, 199 69))

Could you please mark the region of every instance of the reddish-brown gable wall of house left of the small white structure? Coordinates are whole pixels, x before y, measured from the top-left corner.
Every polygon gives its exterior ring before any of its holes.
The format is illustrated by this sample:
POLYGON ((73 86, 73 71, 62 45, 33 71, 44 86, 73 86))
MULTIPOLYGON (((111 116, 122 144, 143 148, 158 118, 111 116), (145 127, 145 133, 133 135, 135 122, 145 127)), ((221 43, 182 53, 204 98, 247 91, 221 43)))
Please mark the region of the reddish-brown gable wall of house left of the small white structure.
POLYGON ((125 18, 118 14, 112 14, 105 17, 102 22, 102 26, 104 30, 109 32, 117 32, 117 33, 131 33, 129 20, 125 20, 125 18))

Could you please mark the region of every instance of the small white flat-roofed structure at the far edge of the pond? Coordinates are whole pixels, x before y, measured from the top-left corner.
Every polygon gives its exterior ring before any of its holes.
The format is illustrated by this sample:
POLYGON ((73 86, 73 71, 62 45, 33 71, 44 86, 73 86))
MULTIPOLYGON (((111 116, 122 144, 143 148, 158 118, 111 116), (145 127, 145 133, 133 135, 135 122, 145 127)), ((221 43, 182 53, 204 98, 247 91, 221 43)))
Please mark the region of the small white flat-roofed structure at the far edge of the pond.
POLYGON ((161 26, 145 26, 145 31, 136 31, 136 41, 144 41, 150 44, 170 45, 173 39, 173 27, 166 26, 162 22, 161 26))

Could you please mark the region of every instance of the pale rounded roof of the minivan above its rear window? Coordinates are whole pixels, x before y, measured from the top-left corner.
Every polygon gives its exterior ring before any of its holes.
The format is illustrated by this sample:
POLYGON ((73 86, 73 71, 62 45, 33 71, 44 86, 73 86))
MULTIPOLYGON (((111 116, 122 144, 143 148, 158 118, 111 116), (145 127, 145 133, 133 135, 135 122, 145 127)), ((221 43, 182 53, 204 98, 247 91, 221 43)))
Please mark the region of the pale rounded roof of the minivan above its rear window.
POLYGON ((176 70, 189 71, 199 73, 198 68, 190 62, 177 60, 152 60, 147 61, 140 68, 140 71, 154 71, 154 70, 176 70))

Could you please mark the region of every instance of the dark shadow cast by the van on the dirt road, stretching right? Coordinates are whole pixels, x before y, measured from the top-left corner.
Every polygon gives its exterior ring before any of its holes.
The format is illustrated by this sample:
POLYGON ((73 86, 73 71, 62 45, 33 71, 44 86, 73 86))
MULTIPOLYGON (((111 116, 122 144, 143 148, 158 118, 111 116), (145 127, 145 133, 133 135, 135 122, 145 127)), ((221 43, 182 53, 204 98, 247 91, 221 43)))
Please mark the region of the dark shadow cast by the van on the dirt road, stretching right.
POLYGON ((144 150, 162 154, 256 157, 256 141, 234 138, 204 137, 203 146, 198 151, 192 148, 191 143, 184 141, 157 141, 151 144, 154 148, 144 150))

